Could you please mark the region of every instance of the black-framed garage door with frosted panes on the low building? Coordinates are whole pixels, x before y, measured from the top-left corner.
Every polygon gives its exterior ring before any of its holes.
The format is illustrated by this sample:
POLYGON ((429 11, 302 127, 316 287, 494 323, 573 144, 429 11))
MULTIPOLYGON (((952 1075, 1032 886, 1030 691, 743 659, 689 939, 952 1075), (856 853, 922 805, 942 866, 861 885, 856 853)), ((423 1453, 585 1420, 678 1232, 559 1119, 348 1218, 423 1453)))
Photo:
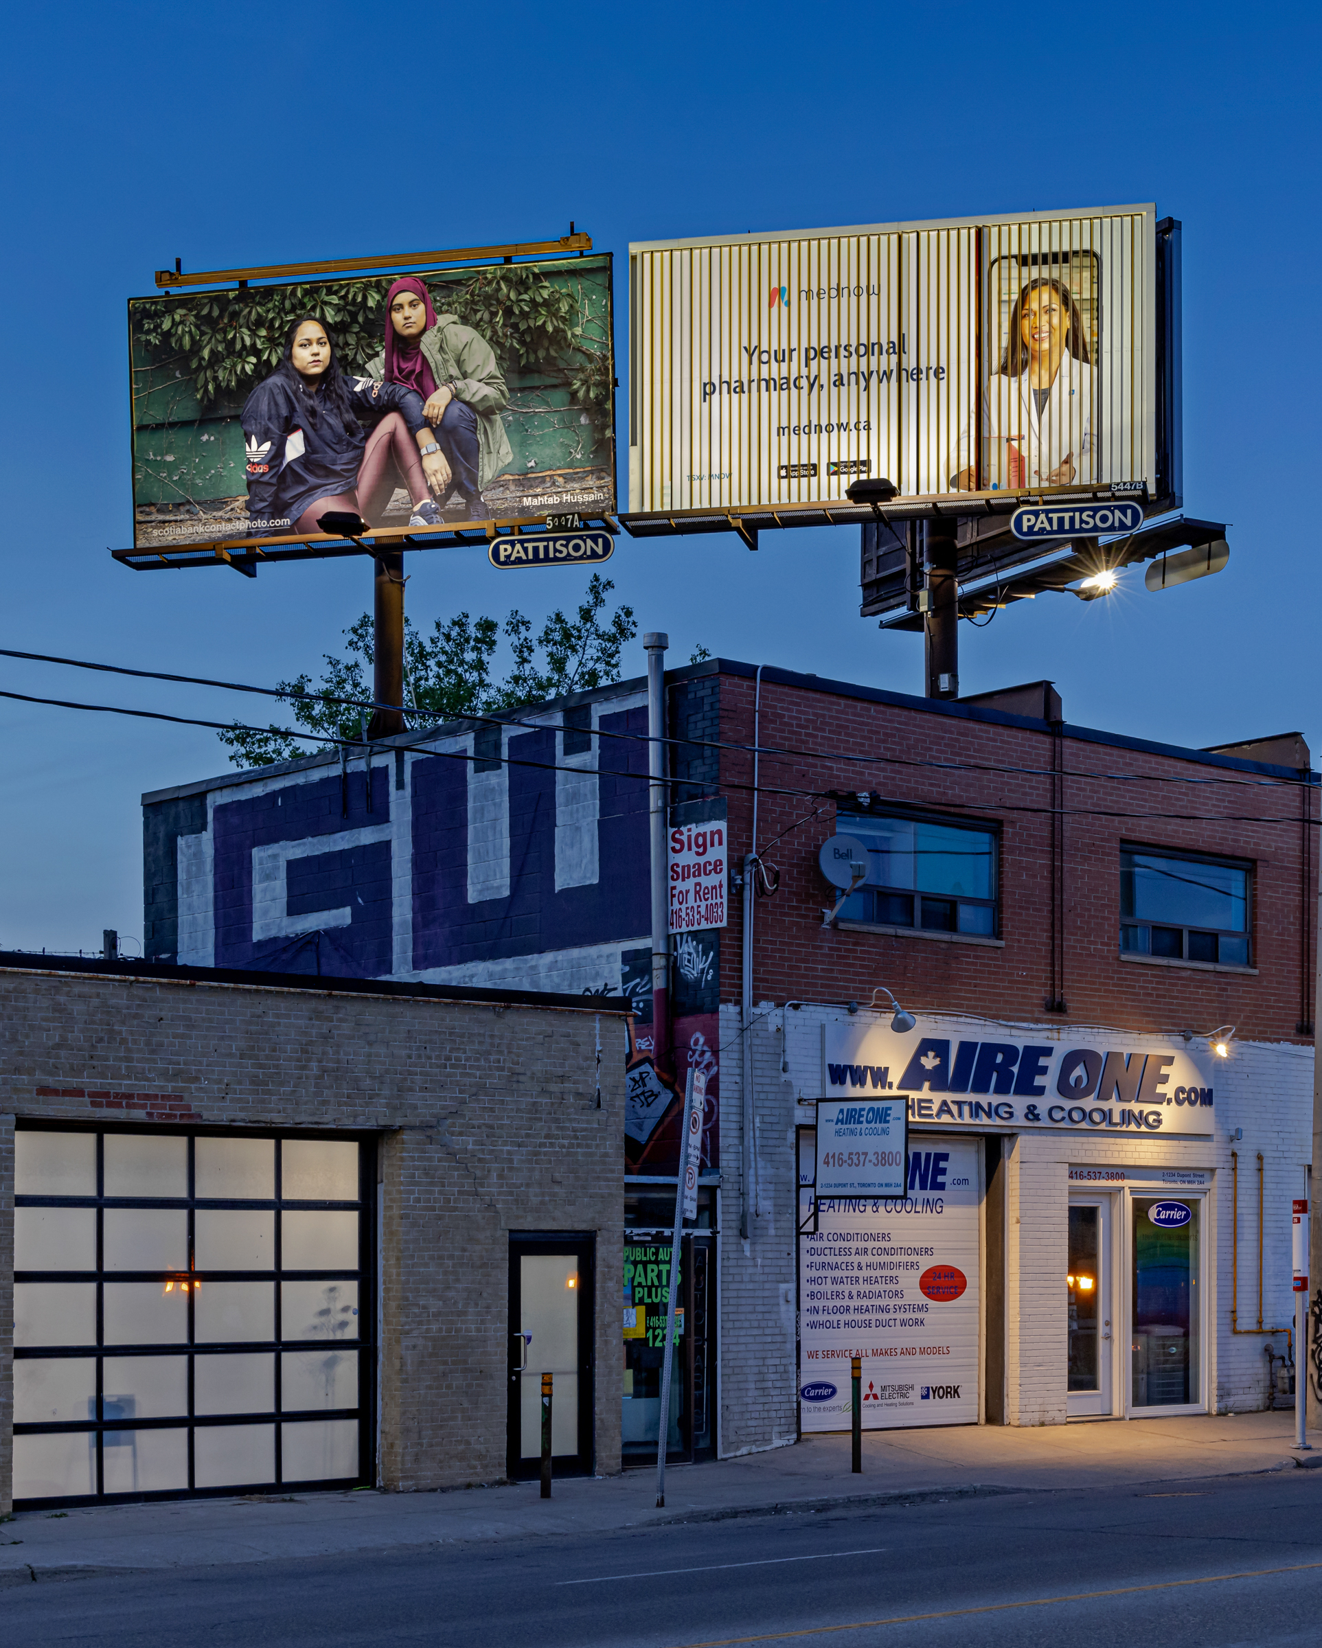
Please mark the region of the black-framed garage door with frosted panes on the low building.
POLYGON ((15 1501, 369 1480, 369 1157, 20 1126, 15 1501))

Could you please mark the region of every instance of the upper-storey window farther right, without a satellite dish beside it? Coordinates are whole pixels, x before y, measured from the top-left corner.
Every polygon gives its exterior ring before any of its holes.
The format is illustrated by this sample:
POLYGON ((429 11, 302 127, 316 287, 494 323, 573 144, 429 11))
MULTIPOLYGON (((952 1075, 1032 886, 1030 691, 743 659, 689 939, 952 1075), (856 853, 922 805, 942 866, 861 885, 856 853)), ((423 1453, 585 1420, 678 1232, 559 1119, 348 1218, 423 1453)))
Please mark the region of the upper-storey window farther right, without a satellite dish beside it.
POLYGON ((1121 847, 1121 951, 1248 967, 1249 868, 1121 847))

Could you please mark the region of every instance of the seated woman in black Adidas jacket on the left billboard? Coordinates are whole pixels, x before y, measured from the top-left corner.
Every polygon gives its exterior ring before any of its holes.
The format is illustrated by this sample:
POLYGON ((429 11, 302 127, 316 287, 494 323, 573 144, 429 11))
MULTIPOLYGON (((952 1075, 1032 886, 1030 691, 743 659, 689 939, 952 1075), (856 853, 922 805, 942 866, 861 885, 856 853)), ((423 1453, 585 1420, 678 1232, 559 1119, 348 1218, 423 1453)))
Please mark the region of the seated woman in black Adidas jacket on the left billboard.
POLYGON ((402 481, 409 526, 440 526, 432 491, 450 468, 422 415, 422 396, 401 384, 346 379, 320 320, 297 320, 285 354, 242 410, 249 532, 320 532, 328 511, 379 524, 402 481))

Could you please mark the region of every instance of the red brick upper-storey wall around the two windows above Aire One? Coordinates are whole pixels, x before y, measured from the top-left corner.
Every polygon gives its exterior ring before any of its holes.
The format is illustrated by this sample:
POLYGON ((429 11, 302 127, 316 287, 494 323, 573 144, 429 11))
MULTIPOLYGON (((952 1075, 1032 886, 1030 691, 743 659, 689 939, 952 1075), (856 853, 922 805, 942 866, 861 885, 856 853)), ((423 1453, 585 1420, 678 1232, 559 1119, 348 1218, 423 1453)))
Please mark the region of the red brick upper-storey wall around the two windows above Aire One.
MULTIPOLYGON (((720 681, 722 740, 753 742, 753 682, 720 681)), ((829 691, 762 684, 760 742, 839 755, 872 755, 860 766, 829 755, 762 756, 758 844, 778 864, 780 892, 757 901, 753 999, 862 1000, 877 984, 905 1007, 945 1009, 1004 1018, 1040 1020, 1050 994, 1050 806, 1052 765, 1047 730, 964 720, 940 712, 872 704, 829 691), (903 766, 880 756, 968 761, 1034 771, 941 771, 903 766), (1001 936, 1004 948, 941 943, 918 936, 827 931, 823 906, 834 903, 818 870, 818 847, 836 829, 834 803, 775 796, 766 789, 875 791, 897 803, 949 808, 953 816, 1001 824, 1001 936), (798 827, 803 814, 823 811, 798 827), (1024 811, 1014 811, 1015 808, 1024 811), (1032 811, 1038 809, 1038 811, 1032 811), (773 844, 773 837, 786 834, 773 844)), ((722 789, 730 804, 730 850, 748 850, 752 756, 722 756, 722 789)), ((1299 1023, 1312 1018, 1310 977, 1304 967, 1304 923, 1317 895, 1317 829, 1302 822, 1299 786, 1273 788, 1261 775, 1207 761, 1152 755, 1118 745, 1063 740, 1065 778, 1065 923, 1062 1022, 1109 1023, 1132 1030, 1207 1032, 1235 1023, 1259 1040, 1306 1040, 1299 1023), (1218 783, 1132 783, 1141 778, 1228 780, 1218 783), (1147 814, 1147 816, 1144 816, 1147 814), (1170 817, 1160 814, 1202 814, 1170 817), (1251 822, 1246 819, 1264 819, 1251 822), (1304 883, 1304 839, 1312 862, 1304 883), (1256 974, 1157 966, 1119 959, 1121 842, 1249 859, 1254 872, 1253 964, 1256 974), (1307 977, 1307 997, 1302 984, 1307 977)), ((1319 794, 1307 791, 1310 816, 1319 794)), ((732 900, 725 934, 730 962, 722 995, 738 994, 742 910, 732 900)), ((1310 971, 1310 969, 1309 969, 1310 971)), ((1050 1015, 1055 1017, 1055 1015, 1050 1015)))

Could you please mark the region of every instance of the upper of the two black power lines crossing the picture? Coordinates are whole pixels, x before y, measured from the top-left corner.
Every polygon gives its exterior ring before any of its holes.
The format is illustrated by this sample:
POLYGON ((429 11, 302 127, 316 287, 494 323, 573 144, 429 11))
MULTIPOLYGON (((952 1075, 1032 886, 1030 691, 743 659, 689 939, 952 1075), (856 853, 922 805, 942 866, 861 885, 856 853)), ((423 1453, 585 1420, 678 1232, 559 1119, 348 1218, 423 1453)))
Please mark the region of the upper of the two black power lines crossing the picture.
MULTIPOLYGON (((208 676, 176 676, 160 669, 130 669, 125 664, 97 664, 82 658, 58 658, 48 653, 20 653, 13 648, 0 648, 0 658, 20 658, 38 664, 63 664, 69 669, 94 669, 112 676, 134 676, 143 681, 173 681, 183 686, 195 687, 219 687, 226 692, 252 692, 260 697, 280 699, 284 704, 297 702, 316 702, 326 704, 336 709, 354 709, 354 710, 396 710, 404 715, 415 715, 417 707, 409 709, 401 704, 381 704, 376 699, 341 699, 330 692, 292 692, 280 687, 257 687, 244 681, 214 681, 208 676)), ((516 715, 485 715, 476 710, 465 712, 462 715, 452 717, 452 720, 471 720, 481 722, 485 725, 496 727, 527 727, 532 732, 546 732, 546 722, 527 720, 516 715)), ((208 723, 211 725, 211 723, 208 723)), ((434 725, 445 725, 437 722, 434 725)), ((287 728, 246 728, 239 723, 226 723, 223 730, 234 732, 279 732, 285 737, 305 737, 303 733, 293 733, 287 728)), ((608 728, 593 727, 590 728, 593 738, 625 738, 635 743, 661 743, 676 750, 724 750, 734 755, 766 755, 766 756, 788 756, 795 760, 811 760, 811 761, 847 761, 851 765, 860 766, 915 766, 928 768, 933 771, 951 771, 951 773, 997 773, 1010 775, 1017 778, 1093 778, 1103 780, 1106 783, 1124 783, 1124 784, 1231 784, 1246 789, 1312 789, 1304 780, 1297 778, 1192 778, 1180 773, 1096 773, 1086 770, 1065 768, 1062 773, 1055 773, 1052 768, 1043 766, 1006 766, 989 761, 933 761, 920 760, 916 756, 902 755, 846 755, 839 750, 798 750, 790 745, 750 745, 735 743, 729 740, 714 738, 663 738, 653 737, 645 732, 615 732, 608 728)), ((361 740, 333 740, 330 733, 313 735, 323 737, 326 742, 348 742, 349 745, 361 747, 361 740)), ((577 771, 577 768, 574 768, 577 771)), ((689 778, 671 778, 671 783, 701 786, 702 780, 689 778)), ((734 786, 743 789, 753 789, 757 786, 734 786)), ((1160 817, 1162 814, 1142 814, 1144 817, 1160 817)))

